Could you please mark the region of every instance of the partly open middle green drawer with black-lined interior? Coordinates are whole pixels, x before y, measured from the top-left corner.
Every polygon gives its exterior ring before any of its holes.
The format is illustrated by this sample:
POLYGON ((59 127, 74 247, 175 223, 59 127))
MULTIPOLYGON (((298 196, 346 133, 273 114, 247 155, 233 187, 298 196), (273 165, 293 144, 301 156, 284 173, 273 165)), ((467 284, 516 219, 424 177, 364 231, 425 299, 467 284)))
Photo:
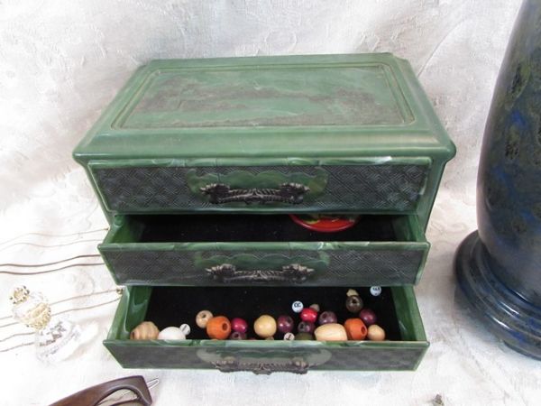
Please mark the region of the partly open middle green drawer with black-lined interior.
POLYGON ((287 215, 118 216, 98 246, 122 285, 398 286, 429 244, 416 216, 363 215, 318 233, 287 215))

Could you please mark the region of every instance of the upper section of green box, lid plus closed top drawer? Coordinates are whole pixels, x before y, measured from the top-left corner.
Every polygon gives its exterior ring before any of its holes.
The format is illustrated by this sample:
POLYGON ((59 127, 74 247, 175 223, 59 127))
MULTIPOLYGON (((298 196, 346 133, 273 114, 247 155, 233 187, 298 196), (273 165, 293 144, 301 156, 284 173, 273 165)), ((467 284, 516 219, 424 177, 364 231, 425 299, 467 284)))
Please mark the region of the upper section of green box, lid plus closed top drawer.
POLYGON ((154 60, 74 151, 102 206, 415 213, 454 144, 390 54, 154 60))

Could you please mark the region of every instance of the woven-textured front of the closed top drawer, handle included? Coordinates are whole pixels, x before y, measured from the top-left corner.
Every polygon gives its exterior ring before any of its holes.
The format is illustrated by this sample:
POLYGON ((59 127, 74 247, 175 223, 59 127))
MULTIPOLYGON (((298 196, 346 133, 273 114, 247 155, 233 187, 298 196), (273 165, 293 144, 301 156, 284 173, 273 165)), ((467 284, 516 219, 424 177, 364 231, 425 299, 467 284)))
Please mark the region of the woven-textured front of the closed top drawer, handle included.
POLYGON ((175 166, 91 162, 105 208, 118 214, 183 211, 414 212, 430 160, 356 164, 175 166))

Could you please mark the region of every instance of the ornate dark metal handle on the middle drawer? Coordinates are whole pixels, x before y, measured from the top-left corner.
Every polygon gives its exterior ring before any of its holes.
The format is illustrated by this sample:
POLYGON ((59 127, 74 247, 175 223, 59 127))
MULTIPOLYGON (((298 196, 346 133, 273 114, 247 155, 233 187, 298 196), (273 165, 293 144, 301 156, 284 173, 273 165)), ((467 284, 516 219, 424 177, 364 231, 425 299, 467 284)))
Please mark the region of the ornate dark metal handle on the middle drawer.
POLYGON ((236 281, 290 281, 303 282, 307 277, 314 272, 313 269, 298 263, 291 263, 282 266, 281 271, 276 270, 254 270, 254 271, 238 271, 231 263, 223 263, 221 265, 206 268, 206 272, 215 280, 222 282, 236 281))

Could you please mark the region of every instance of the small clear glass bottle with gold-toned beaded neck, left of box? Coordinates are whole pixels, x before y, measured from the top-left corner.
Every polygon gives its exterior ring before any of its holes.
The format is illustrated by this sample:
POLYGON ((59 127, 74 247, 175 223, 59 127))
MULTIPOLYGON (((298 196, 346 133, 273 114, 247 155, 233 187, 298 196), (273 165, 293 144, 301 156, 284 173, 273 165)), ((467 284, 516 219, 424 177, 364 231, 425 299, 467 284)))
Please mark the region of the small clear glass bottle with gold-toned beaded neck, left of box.
POLYGON ((41 361, 58 362, 75 352, 81 342, 81 329, 67 319, 51 318, 50 304, 41 292, 20 286, 10 299, 14 318, 35 329, 34 345, 41 361))

